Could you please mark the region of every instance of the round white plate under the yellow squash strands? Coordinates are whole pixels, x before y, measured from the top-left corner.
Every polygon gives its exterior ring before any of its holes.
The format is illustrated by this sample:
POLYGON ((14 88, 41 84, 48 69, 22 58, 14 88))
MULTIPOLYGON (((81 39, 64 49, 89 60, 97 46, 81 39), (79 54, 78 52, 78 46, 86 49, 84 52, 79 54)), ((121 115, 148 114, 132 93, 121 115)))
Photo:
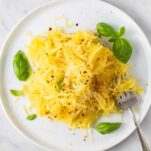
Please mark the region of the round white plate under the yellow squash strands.
MULTIPOLYGON (((151 48, 148 40, 138 25, 118 8, 99 0, 62 0, 53 1, 35 9, 24 17, 11 31, 2 47, 0 67, 0 93, 2 107, 11 123, 29 140, 49 150, 72 151, 100 151, 108 149, 129 136, 134 131, 132 119, 128 113, 124 114, 123 125, 118 130, 108 135, 101 135, 93 131, 93 141, 90 137, 83 141, 83 131, 68 130, 62 123, 38 118, 32 122, 27 121, 22 113, 23 104, 27 100, 21 98, 15 103, 15 98, 9 94, 9 89, 19 89, 19 82, 12 68, 12 59, 16 51, 25 50, 28 43, 25 33, 31 31, 34 35, 48 29, 51 21, 64 16, 68 20, 79 23, 71 31, 77 29, 94 30, 98 22, 107 22, 114 27, 125 26, 126 37, 133 44, 133 56, 130 63, 135 65, 133 70, 140 80, 145 92, 141 95, 141 120, 145 117, 151 104, 151 48), (148 84, 148 85, 146 85, 148 84)), ((60 25, 61 26, 61 25, 60 25)), ((103 118, 108 121, 119 121, 118 115, 103 118)))

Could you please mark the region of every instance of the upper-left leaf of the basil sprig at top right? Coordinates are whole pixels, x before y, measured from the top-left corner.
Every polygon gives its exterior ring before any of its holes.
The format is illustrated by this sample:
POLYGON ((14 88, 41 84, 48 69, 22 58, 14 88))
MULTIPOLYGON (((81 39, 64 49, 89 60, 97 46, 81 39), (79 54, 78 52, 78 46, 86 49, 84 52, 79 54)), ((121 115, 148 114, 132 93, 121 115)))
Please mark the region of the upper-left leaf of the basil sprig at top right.
POLYGON ((98 23, 96 25, 96 30, 99 35, 106 36, 106 37, 117 37, 114 28, 103 22, 98 23))

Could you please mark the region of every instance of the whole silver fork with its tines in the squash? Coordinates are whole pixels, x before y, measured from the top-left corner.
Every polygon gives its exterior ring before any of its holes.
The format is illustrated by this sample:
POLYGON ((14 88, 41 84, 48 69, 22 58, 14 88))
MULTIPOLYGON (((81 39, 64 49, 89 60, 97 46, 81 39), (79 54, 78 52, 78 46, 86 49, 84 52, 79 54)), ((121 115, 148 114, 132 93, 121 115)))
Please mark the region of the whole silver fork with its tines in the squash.
POLYGON ((142 129, 141 129, 141 127, 140 127, 140 125, 136 119, 135 113, 134 113, 133 108, 132 108, 137 103, 137 101, 138 101, 138 98, 137 98, 137 95, 135 94, 134 91, 123 92, 117 98, 117 102, 118 102, 119 107, 122 110, 129 109, 132 113, 133 121, 134 121, 134 124, 136 126, 136 130, 138 132, 138 136, 139 136, 143 151, 151 151, 149 144, 146 142, 146 139, 144 137, 142 129))

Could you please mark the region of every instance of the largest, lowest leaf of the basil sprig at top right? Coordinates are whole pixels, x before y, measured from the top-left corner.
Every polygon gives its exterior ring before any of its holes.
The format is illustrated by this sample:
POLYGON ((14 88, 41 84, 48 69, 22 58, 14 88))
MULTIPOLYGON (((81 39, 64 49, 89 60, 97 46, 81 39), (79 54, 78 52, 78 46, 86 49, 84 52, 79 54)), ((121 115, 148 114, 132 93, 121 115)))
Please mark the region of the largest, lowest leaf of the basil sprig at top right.
POLYGON ((132 55, 132 46, 127 39, 117 39, 113 43, 113 53, 118 60, 127 63, 132 55))

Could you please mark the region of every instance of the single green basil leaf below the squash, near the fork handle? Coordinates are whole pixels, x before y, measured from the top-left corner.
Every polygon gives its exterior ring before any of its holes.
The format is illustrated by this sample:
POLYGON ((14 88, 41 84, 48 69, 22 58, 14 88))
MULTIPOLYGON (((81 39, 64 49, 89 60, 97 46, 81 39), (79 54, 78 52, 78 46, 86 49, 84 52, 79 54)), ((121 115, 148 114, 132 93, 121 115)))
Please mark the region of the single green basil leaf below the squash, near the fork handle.
POLYGON ((95 126, 95 130, 98 131, 101 134, 108 134, 111 133, 118 128, 120 128, 121 123, 108 123, 108 122, 102 122, 95 126))

